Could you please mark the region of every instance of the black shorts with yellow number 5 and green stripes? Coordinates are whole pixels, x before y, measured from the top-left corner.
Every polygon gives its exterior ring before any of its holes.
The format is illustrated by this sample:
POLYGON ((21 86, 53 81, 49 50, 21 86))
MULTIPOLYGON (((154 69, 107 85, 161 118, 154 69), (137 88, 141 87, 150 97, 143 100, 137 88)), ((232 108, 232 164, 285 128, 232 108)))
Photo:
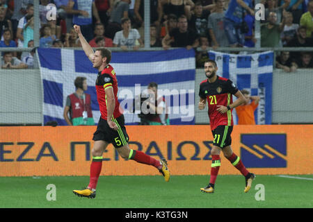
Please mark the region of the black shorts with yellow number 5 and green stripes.
POLYGON ((125 128, 124 115, 122 114, 120 117, 113 119, 113 122, 118 126, 117 131, 113 130, 108 122, 100 117, 97 130, 93 134, 93 140, 104 140, 105 142, 113 144, 115 148, 120 148, 125 146, 129 141, 129 136, 125 128))

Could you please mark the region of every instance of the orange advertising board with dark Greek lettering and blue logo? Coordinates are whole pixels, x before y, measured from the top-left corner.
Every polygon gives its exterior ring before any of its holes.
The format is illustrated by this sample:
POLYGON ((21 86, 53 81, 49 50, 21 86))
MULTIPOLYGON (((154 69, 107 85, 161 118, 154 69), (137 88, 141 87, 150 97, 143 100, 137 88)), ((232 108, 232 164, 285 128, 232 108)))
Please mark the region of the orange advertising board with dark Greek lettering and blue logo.
MULTIPOLYGON (((0 127, 0 176, 89 176, 95 126, 0 127)), ((127 126, 129 146, 157 159, 172 175, 207 175, 210 126, 127 126)), ((313 125, 234 126, 232 148, 256 174, 310 174, 313 125)), ((158 175, 154 167, 124 160, 112 145, 102 176, 158 175)), ((221 155, 220 175, 239 174, 221 155)))

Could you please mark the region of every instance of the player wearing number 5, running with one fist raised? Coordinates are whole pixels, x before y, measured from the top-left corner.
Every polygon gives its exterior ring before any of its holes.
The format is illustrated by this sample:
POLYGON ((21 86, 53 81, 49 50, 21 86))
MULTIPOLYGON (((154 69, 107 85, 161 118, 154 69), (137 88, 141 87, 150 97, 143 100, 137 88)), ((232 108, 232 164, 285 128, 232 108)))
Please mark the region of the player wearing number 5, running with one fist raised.
POLYGON ((86 56, 93 62, 93 67, 99 71, 95 85, 101 117, 97 130, 93 135, 95 143, 91 152, 93 161, 90 165, 89 185, 86 189, 73 190, 73 193, 78 196, 95 198, 95 190, 102 169, 102 155, 109 144, 113 144, 120 156, 125 160, 135 160, 136 162, 156 167, 162 173, 166 182, 168 182, 170 180, 170 171, 168 170, 166 160, 155 160, 141 151, 134 151, 129 148, 127 143, 129 136, 126 132, 125 119, 117 96, 118 80, 113 67, 109 65, 109 62, 111 62, 111 51, 106 48, 99 48, 94 52, 93 48, 81 34, 80 27, 74 25, 74 30, 79 35, 79 40, 86 56))

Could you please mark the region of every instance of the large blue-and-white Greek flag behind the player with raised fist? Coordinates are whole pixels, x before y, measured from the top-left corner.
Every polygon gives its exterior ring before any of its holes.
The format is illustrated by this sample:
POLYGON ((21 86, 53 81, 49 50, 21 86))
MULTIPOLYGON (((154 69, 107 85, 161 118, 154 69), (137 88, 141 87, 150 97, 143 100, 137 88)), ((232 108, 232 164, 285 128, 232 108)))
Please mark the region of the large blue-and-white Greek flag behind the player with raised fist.
MULTIPOLYGON (((101 116, 95 89, 98 71, 85 53, 82 50, 39 48, 38 57, 44 101, 43 122, 56 121, 58 125, 67 125, 63 118, 66 98, 76 90, 75 78, 84 76, 88 83, 86 93, 91 95, 93 117, 97 123, 101 116)), ((171 125, 194 124, 193 50, 113 52, 110 65, 118 79, 118 99, 125 110, 126 124, 135 125, 140 121, 131 104, 151 82, 158 84, 158 90, 166 99, 171 125)))

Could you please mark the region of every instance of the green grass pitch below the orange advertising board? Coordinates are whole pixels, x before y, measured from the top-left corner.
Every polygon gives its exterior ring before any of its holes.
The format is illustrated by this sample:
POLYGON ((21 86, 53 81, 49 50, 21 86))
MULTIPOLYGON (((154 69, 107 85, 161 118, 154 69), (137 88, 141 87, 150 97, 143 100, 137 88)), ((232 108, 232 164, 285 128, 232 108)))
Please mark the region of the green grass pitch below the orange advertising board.
POLYGON ((1 208, 312 208, 313 175, 309 178, 259 176, 250 191, 243 193, 243 176, 218 176, 214 194, 204 194, 209 176, 101 176, 95 199, 79 198, 72 193, 88 185, 88 176, 2 177, 1 208), (47 185, 56 187, 56 200, 47 200, 47 185), (264 200, 255 189, 264 185, 264 200))

